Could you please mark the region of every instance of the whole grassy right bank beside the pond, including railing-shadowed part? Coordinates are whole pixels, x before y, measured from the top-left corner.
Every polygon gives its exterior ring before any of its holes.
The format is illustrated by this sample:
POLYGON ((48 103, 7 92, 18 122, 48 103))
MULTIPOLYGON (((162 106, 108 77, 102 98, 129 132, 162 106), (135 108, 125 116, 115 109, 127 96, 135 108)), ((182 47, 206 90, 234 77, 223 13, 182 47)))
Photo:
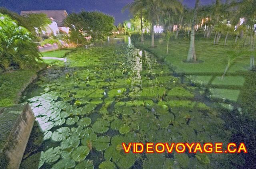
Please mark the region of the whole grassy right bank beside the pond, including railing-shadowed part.
POLYGON ((186 75, 193 83, 209 88, 213 99, 237 102, 244 111, 255 112, 256 73, 248 71, 249 57, 239 57, 234 61, 224 79, 221 76, 228 62, 227 51, 232 50, 230 41, 224 47, 224 40, 219 45, 213 45, 212 39, 196 38, 196 56, 202 63, 184 63, 186 59, 189 40, 171 39, 169 53, 166 53, 166 41, 156 39, 155 48, 150 48, 150 39, 144 43, 136 41, 136 46, 146 49, 164 59, 172 65, 177 72, 186 75))

